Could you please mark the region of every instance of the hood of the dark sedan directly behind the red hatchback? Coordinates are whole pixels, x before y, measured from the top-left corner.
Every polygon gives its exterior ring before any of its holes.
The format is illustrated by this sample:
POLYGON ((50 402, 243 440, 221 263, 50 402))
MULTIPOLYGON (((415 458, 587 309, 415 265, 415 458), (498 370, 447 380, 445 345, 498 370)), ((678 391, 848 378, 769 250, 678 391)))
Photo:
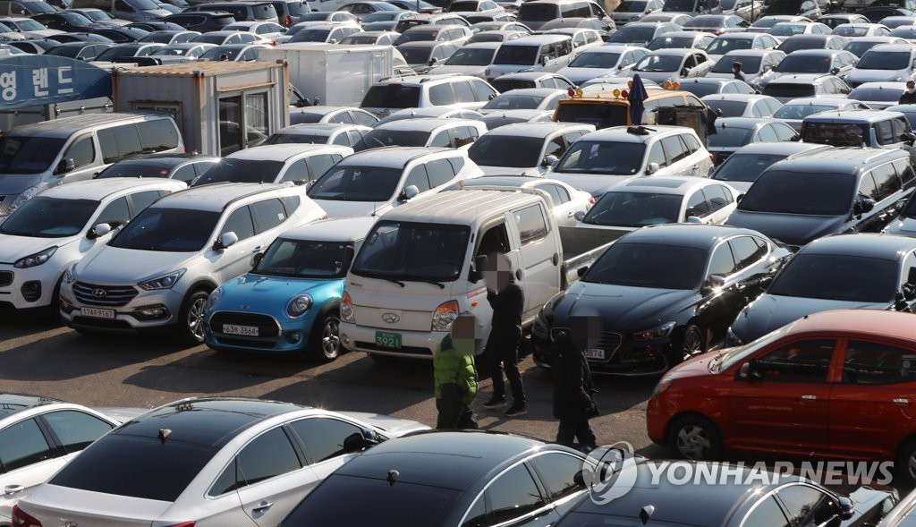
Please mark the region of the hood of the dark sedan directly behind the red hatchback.
POLYGON ((888 305, 763 294, 738 314, 732 331, 745 342, 750 342, 812 313, 834 309, 886 309, 888 305))

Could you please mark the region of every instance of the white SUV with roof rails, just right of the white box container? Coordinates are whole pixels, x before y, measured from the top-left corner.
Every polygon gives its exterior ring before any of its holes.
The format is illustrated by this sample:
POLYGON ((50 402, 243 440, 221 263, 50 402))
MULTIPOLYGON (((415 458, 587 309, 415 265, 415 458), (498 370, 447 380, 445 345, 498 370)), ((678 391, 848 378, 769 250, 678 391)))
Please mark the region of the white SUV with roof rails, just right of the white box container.
POLYGON ((369 88, 360 107, 380 117, 403 108, 430 106, 478 110, 498 94, 493 86, 471 75, 388 77, 369 88))

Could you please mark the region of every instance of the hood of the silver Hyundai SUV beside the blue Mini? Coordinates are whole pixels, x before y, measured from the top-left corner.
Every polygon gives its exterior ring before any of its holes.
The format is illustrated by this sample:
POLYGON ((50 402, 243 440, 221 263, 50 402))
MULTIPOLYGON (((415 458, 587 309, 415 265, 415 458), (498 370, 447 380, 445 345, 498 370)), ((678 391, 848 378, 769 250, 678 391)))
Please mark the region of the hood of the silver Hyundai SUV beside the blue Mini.
POLYGON ((76 280, 107 285, 134 285, 176 269, 197 253, 144 251, 105 246, 82 258, 76 266, 76 280))

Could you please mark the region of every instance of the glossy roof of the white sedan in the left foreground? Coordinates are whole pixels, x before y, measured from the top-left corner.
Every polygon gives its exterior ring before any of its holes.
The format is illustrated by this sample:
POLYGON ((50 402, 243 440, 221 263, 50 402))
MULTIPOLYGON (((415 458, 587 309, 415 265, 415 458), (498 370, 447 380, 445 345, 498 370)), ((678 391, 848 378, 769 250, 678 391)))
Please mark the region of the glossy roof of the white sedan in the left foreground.
POLYGON ((233 397, 181 400, 137 416, 109 435, 159 437, 160 430, 169 430, 162 441, 220 447, 256 423, 306 408, 291 402, 233 397))

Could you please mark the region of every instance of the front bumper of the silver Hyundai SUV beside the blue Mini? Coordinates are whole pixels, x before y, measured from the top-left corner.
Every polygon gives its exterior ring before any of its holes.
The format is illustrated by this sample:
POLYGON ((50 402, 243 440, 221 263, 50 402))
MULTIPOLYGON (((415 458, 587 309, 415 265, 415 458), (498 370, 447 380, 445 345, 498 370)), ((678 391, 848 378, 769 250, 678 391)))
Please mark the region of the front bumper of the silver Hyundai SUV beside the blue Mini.
MULTIPOLYGON (((160 333, 171 330, 179 322, 184 291, 143 291, 136 286, 117 286, 137 291, 123 305, 89 304, 77 299, 72 284, 60 286, 60 318, 73 328, 113 334, 160 333)), ((96 286, 111 290, 114 286, 96 286)))

